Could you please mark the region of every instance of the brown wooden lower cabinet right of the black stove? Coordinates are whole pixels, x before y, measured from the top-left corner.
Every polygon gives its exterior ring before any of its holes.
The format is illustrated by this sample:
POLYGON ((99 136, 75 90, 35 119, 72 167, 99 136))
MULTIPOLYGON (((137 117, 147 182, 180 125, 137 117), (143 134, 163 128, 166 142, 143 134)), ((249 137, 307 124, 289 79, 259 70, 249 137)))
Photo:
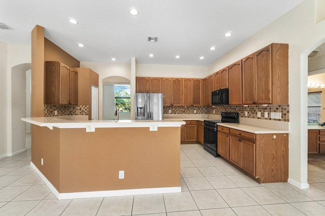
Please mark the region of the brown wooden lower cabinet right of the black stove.
POLYGON ((223 159, 258 183, 287 182, 287 133, 254 134, 220 127, 218 154, 223 159))

